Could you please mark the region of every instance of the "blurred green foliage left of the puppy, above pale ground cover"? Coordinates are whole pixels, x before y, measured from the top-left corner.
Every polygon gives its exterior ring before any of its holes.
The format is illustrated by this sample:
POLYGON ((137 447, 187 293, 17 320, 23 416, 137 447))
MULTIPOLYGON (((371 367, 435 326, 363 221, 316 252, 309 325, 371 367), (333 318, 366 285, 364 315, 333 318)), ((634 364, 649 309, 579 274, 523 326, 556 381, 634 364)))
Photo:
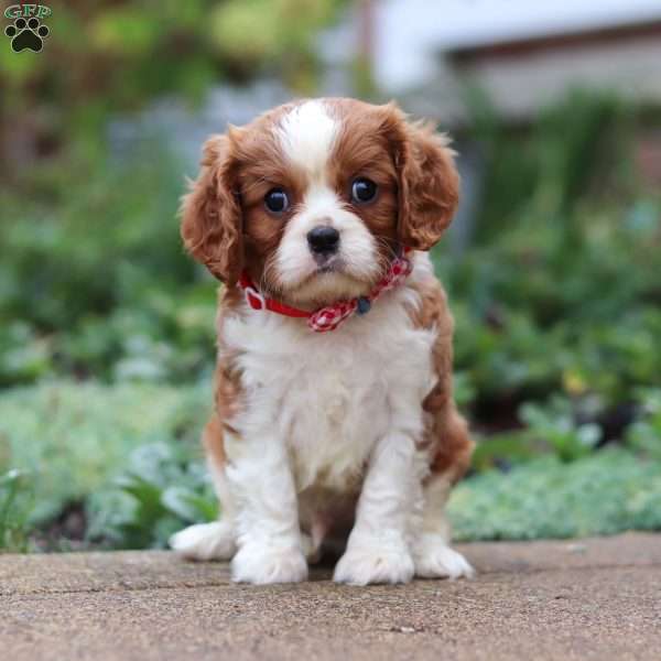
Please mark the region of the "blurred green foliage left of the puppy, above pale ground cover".
POLYGON ((181 379, 209 366, 215 285, 182 250, 173 160, 152 151, 72 185, 42 174, 46 201, 0 195, 0 384, 53 371, 181 379))

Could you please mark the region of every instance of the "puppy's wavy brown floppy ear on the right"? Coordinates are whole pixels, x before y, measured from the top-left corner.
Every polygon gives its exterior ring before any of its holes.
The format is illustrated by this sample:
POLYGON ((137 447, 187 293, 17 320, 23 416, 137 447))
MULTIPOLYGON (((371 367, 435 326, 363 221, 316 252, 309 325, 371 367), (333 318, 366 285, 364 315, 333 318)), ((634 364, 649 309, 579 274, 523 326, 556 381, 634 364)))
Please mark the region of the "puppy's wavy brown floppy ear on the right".
POLYGON ((403 246, 429 250, 452 221, 459 201, 459 174, 448 139, 424 122, 407 122, 401 111, 395 131, 399 176, 399 238, 403 246))

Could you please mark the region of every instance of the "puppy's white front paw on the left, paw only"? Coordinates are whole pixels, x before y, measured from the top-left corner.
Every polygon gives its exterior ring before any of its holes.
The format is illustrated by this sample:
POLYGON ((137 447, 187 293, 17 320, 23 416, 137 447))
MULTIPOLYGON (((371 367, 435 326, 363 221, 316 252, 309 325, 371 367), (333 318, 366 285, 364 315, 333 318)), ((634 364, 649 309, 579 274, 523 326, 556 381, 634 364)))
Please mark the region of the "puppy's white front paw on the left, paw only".
POLYGON ((307 563, 295 546, 273 548, 246 544, 231 561, 235 583, 299 583, 307 578, 307 563))

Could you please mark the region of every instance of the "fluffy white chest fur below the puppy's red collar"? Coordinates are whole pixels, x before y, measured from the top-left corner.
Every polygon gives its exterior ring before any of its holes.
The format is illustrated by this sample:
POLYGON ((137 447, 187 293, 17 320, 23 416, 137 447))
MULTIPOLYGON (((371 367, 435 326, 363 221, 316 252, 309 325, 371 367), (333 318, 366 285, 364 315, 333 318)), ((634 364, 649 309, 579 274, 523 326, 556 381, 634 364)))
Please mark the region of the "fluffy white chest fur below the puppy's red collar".
POLYGON ((412 326, 407 305, 415 304, 415 292, 402 286, 325 334, 268 312, 225 321, 223 337, 239 356, 246 388, 234 424, 241 436, 285 444, 299 492, 346 490, 386 433, 422 433, 435 333, 412 326))

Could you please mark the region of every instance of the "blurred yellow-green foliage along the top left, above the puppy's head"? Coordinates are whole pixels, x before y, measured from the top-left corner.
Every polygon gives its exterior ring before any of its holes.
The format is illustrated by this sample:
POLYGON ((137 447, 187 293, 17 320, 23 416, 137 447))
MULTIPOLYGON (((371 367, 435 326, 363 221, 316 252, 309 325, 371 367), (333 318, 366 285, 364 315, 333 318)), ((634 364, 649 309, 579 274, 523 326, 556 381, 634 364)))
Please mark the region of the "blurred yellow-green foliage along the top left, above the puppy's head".
POLYGON ((48 17, 42 54, 0 48, 0 163, 12 176, 42 153, 102 152, 111 112, 132 111, 176 93, 199 100, 219 80, 246 83, 269 72, 310 93, 312 40, 344 0, 74 0, 48 17), (23 121, 30 113, 31 121, 23 121), (15 141, 15 142, 14 142, 15 141), (8 155, 18 145, 24 162, 8 155))

